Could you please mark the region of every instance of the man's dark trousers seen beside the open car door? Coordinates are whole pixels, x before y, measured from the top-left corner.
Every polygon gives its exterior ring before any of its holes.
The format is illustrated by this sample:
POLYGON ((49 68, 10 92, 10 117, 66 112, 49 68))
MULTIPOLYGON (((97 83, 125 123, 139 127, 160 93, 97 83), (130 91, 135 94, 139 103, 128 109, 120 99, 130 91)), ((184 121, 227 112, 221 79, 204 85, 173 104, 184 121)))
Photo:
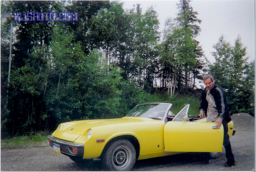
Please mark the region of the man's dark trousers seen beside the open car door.
POLYGON ((225 150, 226 150, 226 157, 227 157, 228 161, 233 162, 233 161, 235 161, 235 158, 232 153, 231 144, 229 141, 228 123, 224 121, 222 124, 223 124, 223 128, 224 128, 223 146, 225 147, 225 150))

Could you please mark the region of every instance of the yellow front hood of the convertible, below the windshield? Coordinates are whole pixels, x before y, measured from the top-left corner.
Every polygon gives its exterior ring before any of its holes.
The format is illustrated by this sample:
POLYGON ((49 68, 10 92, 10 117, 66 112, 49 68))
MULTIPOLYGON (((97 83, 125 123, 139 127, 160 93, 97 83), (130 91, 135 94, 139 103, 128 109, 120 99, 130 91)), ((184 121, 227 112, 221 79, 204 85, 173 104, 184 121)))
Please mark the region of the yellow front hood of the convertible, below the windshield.
POLYGON ((53 137, 60 138, 74 142, 76 138, 83 135, 89 129, 95 127, 102 127, 107 125, 116 125, 122 123, 136 123, 152 120, 150 118, 140 117, 123 117, 117 119, 97 119, 97 120, 83 120, 73 121, 68 123, 61 123, 58 128, 52 133, 53 137))

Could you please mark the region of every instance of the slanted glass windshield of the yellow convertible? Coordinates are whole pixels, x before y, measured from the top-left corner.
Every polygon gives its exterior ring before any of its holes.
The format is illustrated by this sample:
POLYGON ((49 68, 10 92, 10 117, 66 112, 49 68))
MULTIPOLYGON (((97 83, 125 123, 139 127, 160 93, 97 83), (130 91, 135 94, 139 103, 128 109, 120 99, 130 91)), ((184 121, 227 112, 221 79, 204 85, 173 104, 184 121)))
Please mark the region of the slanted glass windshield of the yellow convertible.
POLYGON ((137 116, 163 120, 165 114, 171 108, 169 103, 148 103, 135 106, 126 116, 137 116))

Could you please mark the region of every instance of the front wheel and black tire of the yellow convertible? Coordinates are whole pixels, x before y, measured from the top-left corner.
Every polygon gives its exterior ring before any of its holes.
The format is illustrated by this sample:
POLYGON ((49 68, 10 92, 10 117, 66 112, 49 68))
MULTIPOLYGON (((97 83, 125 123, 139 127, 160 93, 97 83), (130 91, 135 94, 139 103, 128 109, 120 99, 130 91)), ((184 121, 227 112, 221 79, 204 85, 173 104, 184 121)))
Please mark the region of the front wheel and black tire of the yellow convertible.
POLYGON ((135 161, 135 148, 125 139, 113 142, 103 157, 103 165, 110 171, 131 171, 135 161))

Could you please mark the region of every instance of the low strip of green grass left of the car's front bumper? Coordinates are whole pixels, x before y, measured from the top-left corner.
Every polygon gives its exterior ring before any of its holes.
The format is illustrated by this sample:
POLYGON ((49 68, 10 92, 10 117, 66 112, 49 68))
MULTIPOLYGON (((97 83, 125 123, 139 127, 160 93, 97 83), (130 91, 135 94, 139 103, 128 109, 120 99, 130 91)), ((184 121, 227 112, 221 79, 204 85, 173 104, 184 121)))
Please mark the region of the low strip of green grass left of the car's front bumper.
POLYGON ((46 133, 39 132, 29 136, 17 136, 1 140, 1 149, 17 149, 48 144, 46 133))

